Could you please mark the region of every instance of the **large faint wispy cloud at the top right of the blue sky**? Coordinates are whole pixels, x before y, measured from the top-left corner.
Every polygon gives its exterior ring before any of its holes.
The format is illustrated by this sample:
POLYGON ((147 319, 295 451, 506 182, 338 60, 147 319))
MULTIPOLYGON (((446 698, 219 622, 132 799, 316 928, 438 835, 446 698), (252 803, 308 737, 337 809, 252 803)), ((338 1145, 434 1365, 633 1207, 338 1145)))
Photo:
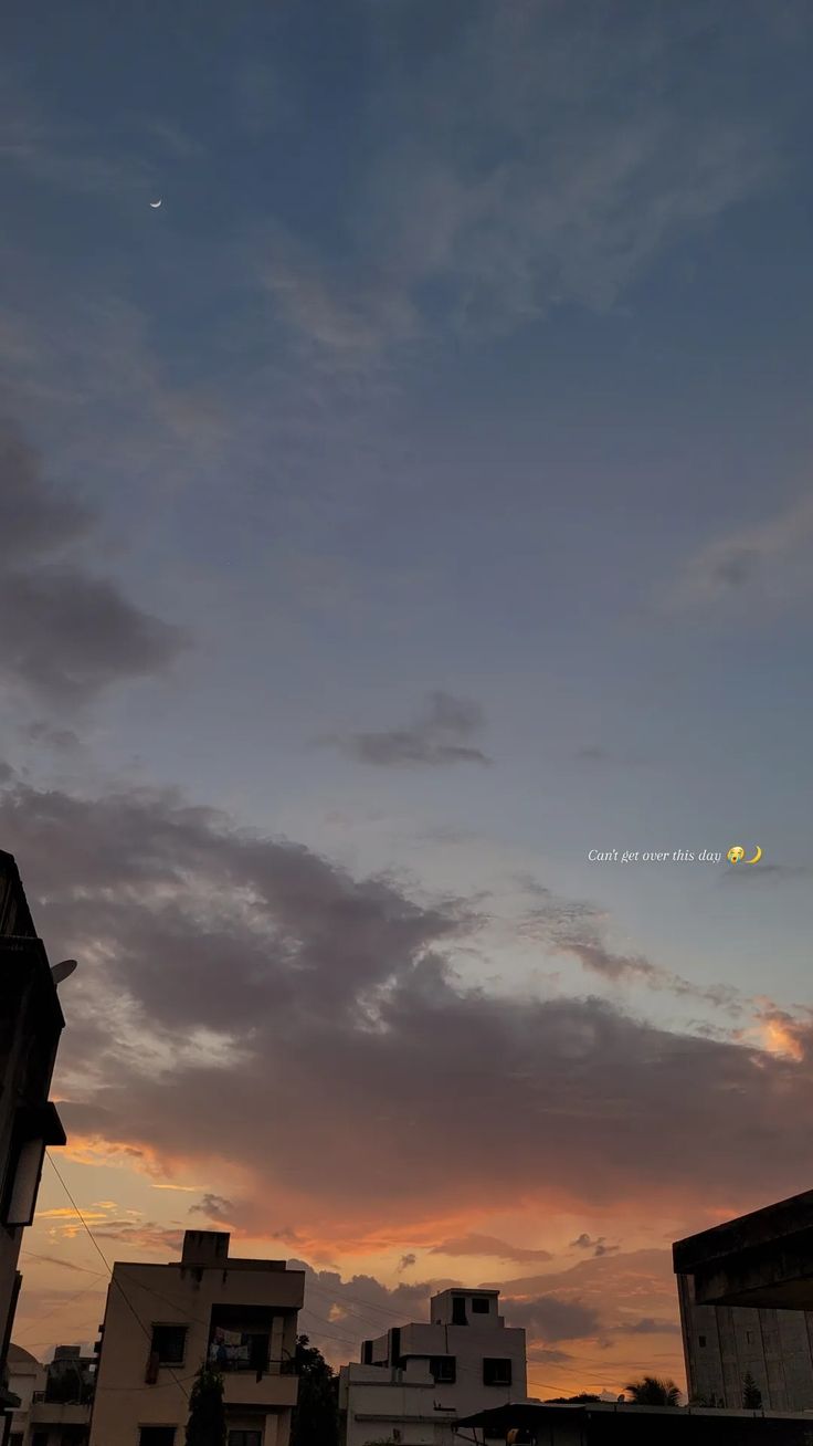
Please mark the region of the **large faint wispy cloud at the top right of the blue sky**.
MULTIPOLYGON (((426 48, 412 7, 378 6, 373 25, 373 146, 341 259, 289 243, 261 268, 284 314, 334 356, 427 330, 498 334, 573 302, 608 308, 778 171, 752 94, 693 64, 702 7, 619 19, 598 4, 585 29, 566 7, 472 0, 426 48)), ((734 54, 715 59, 728 74, 742 58, 725 43, 734 54)))

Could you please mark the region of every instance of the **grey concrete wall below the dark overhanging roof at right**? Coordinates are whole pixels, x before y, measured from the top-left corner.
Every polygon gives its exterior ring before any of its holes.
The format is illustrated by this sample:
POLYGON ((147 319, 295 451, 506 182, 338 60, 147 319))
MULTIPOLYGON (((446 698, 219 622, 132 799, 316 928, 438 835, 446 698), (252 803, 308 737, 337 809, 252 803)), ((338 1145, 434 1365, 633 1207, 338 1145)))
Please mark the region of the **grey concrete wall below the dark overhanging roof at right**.
POLYGON ((677 1277, 689 1400, 736 1408, 751 1375, 770 1411, 813 1411, 813 1313, 699 1306, 677 1277))

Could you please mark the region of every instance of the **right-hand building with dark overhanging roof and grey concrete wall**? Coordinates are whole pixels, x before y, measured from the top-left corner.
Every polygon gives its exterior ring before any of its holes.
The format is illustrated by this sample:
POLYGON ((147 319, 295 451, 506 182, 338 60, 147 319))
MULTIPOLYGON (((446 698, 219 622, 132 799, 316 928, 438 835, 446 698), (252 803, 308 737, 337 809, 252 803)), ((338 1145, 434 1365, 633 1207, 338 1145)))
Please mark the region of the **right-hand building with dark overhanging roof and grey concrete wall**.
POLYGON ((813 1192, 673 1246, 689 1398, 813 1410, 813 1192))

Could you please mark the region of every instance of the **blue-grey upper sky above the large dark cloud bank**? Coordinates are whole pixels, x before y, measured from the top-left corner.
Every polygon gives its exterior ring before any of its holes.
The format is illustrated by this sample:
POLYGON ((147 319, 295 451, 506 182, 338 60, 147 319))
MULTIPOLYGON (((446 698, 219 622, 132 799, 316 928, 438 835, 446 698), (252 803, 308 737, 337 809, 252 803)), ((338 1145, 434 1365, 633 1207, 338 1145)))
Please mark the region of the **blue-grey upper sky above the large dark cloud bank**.
POLYGON ((809 7, 45 0, 7 30, 4 846, 55 947, 45 791, 157 818, 169 788, 477 898, 452 953, 501 998, 765 1044, 770 996, 799 1054, 809 7), (736 842, 760 876, 588 862, 736 842))

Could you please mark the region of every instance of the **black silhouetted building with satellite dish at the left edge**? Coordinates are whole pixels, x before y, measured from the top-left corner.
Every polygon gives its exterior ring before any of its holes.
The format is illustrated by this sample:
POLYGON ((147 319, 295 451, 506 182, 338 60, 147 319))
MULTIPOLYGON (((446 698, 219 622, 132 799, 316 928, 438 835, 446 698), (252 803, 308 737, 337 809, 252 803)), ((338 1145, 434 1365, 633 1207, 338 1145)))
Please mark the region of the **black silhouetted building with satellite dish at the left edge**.
POLYGON ((0 852, 0 1446, 16 1404, 7 1390, 7 1353, 22 1236, 33 1219, 45 1150, 65 1144, 48 1093, 65 1025, 56 985, 69 967, 51 969, 17 866, 0 852))

